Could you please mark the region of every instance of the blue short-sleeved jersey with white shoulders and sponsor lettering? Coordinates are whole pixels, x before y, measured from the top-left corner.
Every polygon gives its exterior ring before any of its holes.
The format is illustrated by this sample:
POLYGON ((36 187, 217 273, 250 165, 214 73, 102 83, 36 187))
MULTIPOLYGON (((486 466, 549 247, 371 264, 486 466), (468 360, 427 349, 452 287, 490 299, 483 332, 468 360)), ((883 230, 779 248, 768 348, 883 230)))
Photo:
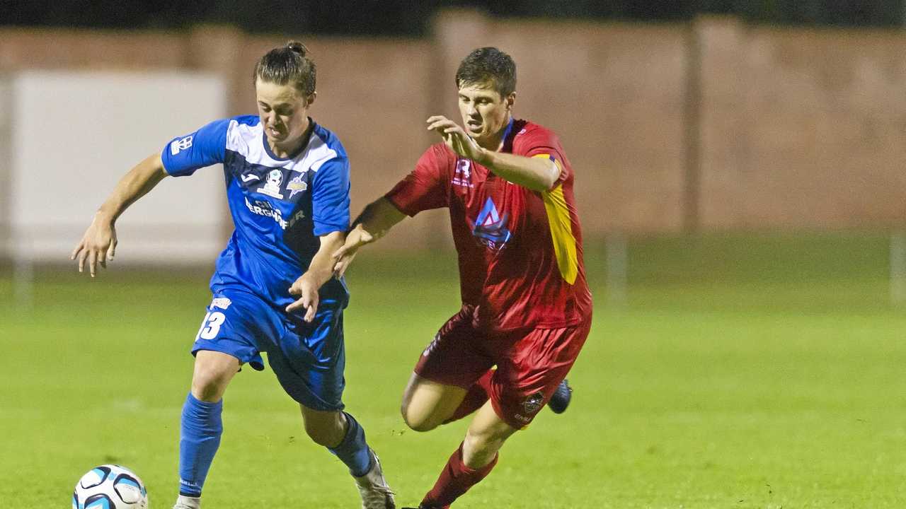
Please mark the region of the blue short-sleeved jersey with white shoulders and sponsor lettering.
MULTIPOLYGON (((314 122, 311 138, 289 158, 273 153, 255 115, 215 120, 173 139, 160 158, 174 177, 224 165, 236 229, 217 258, 213 293, 244 287, 283 309, 295 300, 287 290, 308 269, 318 237, 349 228, 349 159, 340 140, 314 122)), ((321 295, 328 305, 349 298, 335 279, 321 295)))

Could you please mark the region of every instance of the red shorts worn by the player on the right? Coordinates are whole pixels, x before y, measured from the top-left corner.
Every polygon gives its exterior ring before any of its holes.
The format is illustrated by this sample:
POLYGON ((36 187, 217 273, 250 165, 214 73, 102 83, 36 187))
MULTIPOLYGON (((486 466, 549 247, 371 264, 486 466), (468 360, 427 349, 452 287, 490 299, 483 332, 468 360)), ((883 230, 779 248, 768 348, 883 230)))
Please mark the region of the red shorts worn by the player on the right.
POLYGON ((516 429, 528 426, 573 367, 592 327, 583 322, 559 329, 492 332, 477 329, 466 309, 440 328, 415 365, 419 377, 470 388, 495 365, 491 404, 516 429))

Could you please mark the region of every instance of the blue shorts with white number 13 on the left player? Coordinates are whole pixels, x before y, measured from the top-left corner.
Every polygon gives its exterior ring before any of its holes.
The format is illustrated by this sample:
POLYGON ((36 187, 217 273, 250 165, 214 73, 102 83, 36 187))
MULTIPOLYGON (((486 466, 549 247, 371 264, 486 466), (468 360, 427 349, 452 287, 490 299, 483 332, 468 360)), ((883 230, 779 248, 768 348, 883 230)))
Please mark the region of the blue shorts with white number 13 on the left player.
POLYGON ((220 289, 207 306, 192 354, 219 351, 255 370, 264 370, 261 352, 280 385, 293 399, 315 410, 342 410, 342 308, 344 302, 323 299, 311 323, 287 314, 254 293, 220 289))

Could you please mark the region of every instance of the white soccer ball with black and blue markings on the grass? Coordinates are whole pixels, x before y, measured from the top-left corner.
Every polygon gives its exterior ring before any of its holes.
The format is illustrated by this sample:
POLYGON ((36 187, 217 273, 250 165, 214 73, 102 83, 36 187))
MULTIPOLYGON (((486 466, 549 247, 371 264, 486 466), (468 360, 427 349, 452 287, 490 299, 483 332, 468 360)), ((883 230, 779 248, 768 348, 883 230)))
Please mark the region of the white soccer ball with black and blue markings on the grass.
POLYGON ((146 509, 148 490, 129 468, 101 465, 82 475, 72 493, 72 509, 146 509))

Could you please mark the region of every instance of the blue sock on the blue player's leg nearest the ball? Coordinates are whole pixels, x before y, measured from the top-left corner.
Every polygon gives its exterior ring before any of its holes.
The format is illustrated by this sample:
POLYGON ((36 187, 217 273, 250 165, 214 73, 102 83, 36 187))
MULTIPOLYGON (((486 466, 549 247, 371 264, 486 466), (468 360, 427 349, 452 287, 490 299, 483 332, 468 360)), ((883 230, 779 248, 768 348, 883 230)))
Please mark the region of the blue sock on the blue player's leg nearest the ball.
POLYGON ((207 469, 214 461, 224 430, 220 421, 223 407, 223 399, 208 403, 188 393, 179 434, 179 495, 201 496, 207 469))

